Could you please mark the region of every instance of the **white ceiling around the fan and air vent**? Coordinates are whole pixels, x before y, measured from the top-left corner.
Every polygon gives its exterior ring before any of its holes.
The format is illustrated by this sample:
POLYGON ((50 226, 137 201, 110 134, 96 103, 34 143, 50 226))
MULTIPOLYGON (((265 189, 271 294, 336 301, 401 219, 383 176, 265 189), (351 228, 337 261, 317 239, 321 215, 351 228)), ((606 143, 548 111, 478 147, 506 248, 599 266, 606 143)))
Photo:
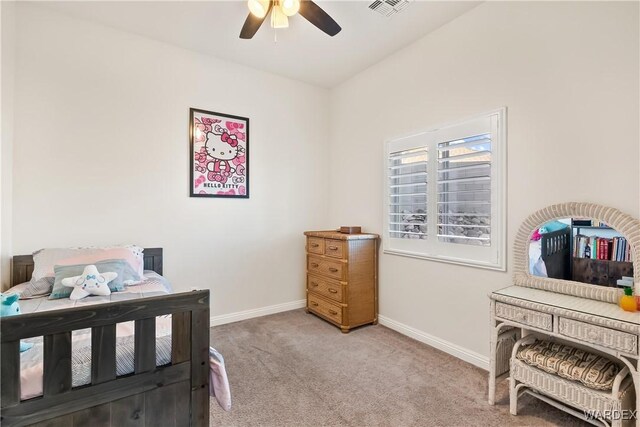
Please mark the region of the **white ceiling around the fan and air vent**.
POLYGON ((252 40, 238 35, 245 1, 46 2, 78 18, 161 40, 311 84, 333 87, 475 7, 479 2, 412 1, 386 18, 370 1, 317 1, 342 27, 329 37, 297 15, 277 31, 264 22, 252 40))

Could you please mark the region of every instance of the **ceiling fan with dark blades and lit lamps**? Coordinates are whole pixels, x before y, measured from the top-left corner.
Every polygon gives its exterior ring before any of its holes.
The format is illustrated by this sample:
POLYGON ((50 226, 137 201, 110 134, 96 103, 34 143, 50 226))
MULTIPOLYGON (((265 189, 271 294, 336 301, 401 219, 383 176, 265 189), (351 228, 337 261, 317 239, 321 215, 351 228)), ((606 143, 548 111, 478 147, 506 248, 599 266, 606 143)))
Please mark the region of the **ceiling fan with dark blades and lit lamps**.
POLYGON ((311 0, 248 0, 248 6, 249 16, 240 31, 241 39, 252 38, 260 29, 269 12, 271 12, 271 27, 273 28, 287 28, 289 17, 300 13, 303 18, 331 37, 342 30, 327 12, 311 0))

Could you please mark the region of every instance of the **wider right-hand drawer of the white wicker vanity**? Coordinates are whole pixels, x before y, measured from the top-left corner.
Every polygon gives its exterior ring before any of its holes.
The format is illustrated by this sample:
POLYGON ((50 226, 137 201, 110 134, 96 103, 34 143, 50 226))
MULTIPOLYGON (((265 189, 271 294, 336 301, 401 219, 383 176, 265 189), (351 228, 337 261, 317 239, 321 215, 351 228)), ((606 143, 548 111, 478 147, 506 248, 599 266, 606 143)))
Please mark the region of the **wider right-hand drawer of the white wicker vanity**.
POLYGON ((558 332, 565 337, 576 338, 629 354, 638 354, 638 336, 627 332, 591 325, 565 317, 561 317, 558 321, 558 332))

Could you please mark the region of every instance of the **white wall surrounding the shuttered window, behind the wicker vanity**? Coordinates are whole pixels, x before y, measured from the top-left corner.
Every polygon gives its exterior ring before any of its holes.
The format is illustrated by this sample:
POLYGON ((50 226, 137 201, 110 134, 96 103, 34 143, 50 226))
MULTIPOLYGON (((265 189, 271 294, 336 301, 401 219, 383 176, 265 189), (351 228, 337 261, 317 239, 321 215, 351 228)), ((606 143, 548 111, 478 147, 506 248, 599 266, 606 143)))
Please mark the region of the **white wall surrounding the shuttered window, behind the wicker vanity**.
MULTIPOLYGON (((508 248, 528 214, 556 202, 639 216, 639 39, 637 3, 486 2, 345 82, 331 99, 331 223, 382 233, 385 139, 502 106, 508 248)), ((501 273, 382 255, 381 315, 482 362, 487 294, 510 284, 512 263, 501 273)))

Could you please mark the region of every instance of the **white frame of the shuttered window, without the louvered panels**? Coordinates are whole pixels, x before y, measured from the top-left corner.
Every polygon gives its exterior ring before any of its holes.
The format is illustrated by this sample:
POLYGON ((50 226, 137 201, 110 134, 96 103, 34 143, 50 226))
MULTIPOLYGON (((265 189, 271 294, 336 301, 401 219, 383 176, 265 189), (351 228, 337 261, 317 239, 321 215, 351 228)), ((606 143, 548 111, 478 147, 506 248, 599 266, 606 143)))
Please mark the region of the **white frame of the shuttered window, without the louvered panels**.
MULTIPOLYGON (((486 126, 486 123, 484 124, 486 126)), ((487 133, 486 131, 483 133, 487 133)), ((413 132, 384 141, 383 149, 383 253, 427 259, 490 270, 506 271, 507 233, 507 108, 502 107, 463 120, 456 120, 427 130, 413 132), (438 241, 437 174, 438 143, 451 138, 471 137, 479 123, 488 120, 491 133, 491 245, 475 246, 438 241), (456 136, 457 135, 457 136, 456 136), (400 239, 390 237, 389 154, 426 146, 427 148, 427 238, 400 239)))

